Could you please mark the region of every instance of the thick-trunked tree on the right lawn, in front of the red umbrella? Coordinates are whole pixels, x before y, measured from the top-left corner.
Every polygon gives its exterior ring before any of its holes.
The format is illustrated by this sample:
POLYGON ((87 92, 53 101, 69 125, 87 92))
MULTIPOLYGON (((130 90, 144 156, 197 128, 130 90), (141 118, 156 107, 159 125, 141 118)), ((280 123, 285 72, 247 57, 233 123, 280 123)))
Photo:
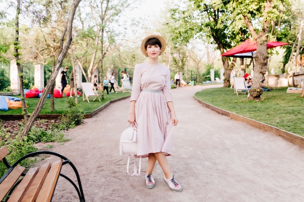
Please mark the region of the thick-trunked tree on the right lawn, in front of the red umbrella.
POLYGON ((271 19, 280 15, 278 7, 283 6, 284 0, 234 0, 232 5, 236 14, 243 16, 245 25, 256 41, 256 52, 253 55, 253 86, 249 99, 261 100, 263 90, 261 85, 267 72, 267 42, 271 19), (257 22, 257 20, 259 21, 257 22), (254 22, 254 25, 253 25, 254 22))

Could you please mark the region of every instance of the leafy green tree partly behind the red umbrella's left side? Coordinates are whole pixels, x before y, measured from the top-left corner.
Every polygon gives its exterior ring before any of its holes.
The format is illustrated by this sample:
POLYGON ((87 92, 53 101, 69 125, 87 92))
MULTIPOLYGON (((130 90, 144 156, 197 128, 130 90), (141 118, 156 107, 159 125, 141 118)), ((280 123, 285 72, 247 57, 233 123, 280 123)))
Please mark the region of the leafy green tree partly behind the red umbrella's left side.
MULTIPOLYGON (((179 28, 190 28, 194 30, 193 36, 201 40, 217 45, 221 53, 231 48, 239 42, 245 41, 248 31, 240 22, 239 17, 235 17, 229 1, 211 0, 189 0, 186 7, 187 17, 191 18, 185 23, 181 23, 179 28)), ((182 16, 182 15, 181 15, 182 16)), ((181 18, 184 20, 184 17, 181 18)), ((183 22, 181 20, 181 22, 183 22)), ((221 58, 224 67, 224 86, 230 86, 230 73, 234 63, 229 65, 227 57, 221 58)))

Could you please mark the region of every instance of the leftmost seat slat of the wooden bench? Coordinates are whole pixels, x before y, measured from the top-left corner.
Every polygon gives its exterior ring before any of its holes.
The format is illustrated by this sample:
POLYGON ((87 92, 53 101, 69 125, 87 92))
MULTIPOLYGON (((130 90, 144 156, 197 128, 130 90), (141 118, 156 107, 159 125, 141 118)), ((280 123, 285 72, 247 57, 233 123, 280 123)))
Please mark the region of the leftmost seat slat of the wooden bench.
POLYGON ((22 166, 16 166, 14 170, 5 178, 5 180, 0 184, 0 200, 2 200, 9 190, 17 182, 18 178, 25 170, 22 166))

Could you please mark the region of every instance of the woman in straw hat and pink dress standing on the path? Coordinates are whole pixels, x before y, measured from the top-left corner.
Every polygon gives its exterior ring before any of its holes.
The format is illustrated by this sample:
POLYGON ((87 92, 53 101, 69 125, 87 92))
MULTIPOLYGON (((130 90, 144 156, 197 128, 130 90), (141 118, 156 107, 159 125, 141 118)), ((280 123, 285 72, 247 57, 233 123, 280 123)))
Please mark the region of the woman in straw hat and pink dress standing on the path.
POLYGON ((152 171, 157 160, 169 188, 182 191, 166 158, 172 152, 173 126, 178 120, 172 102, 170 70, 158 63, 158 56, 165 49, 166 41, 159 35, 148 36, 142 41, 141 52, 149 59, 135 65, 128 122, 137 123, 137 155, 149 157, 146 187, 155 187, 152 171))

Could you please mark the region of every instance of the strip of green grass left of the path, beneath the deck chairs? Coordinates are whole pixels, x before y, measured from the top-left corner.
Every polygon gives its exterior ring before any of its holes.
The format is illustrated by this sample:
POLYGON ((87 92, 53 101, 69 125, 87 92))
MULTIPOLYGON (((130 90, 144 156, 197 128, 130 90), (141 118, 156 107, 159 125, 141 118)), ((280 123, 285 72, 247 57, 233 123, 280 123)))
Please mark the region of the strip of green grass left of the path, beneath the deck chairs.
MULTIPOLYGON (((101 93, 101 92, 99 92, 99 93, 101 93)), ((91 113, 95 109, 98 109, 99 107, 101 107, 102 105, 104 105, 105 103, 107 103, 111 100, 130 96, 130 94, 131 93, 127 93, 127 92, 126 93, 118 92, 117 94, 115 94, 115 93, 106 94, 105 93, 104 99, 103 100, 101 99, 101 102, 99 102, 99 100, 97 99, 95 101, 90 100, 90 103, 88 103, 86 100, 84 100, 84 102, 83 102, 83 97, 80 96, 80 97, 78 97, 77 109, 82 111, 82 113, 91 113)), ((16 96, 16 97, 20 97, 20 96, 16 96)), ((65 111, 67 111, 67 109, 68 109, 68 99, 75 99, 75 98, 74 97, 70 98, 70 97, 65 97, 65 96, 63 98, 55 98, 54 99, 55 111, 51 111, 51 102, 50 102, 50 99, 47 99, 40 114, 65 113, 65 111)), ((26 103, 29 106, 27 108, 29 114, 34 111, 34 108, 36 107, 38 100, 39 100, 39 98, 27 98, 26 99, 26 103)), ((0 114, 22 114, 22 109, 21 108, 20 109, 9 109, 7 111, 0 110, 0 114)))

